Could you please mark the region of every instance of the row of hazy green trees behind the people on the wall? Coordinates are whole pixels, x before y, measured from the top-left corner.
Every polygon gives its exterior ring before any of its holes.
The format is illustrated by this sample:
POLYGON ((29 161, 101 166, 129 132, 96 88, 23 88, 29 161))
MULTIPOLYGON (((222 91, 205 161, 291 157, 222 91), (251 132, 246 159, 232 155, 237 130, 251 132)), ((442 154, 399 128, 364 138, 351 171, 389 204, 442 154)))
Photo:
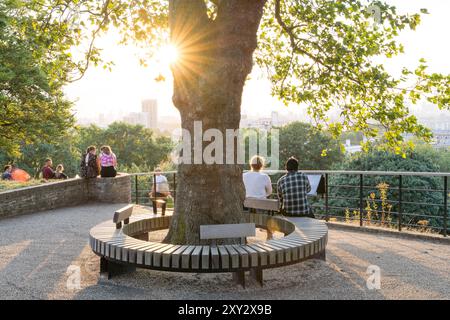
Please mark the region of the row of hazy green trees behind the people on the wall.
POLYGON ((79 174, 81 155, 89 145, 98 148, 110 145, 117 155, 119 171, 124 172, 152 171, 167 161, 172 150, 169 137, 156 136, 152 130, 140 125, 113 123, 107 128, 89 126, 73 129, 51 143, 23 144, 19 156, 10 157, 0 152, 0 161, 2 164, 15 163, 38 177, 44 160, 51 158, 54 166, 63 164, 66 174, 74 177, 79 174))

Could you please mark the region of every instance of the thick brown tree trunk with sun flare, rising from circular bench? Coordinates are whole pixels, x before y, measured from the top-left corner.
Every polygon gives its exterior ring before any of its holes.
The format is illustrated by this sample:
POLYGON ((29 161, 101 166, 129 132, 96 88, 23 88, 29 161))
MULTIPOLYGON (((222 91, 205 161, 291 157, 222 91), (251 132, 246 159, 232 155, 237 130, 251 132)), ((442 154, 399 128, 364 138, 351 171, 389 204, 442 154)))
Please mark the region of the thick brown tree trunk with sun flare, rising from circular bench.
MULTIPOLYGON (((208 17, 204 0, 170 1, 171 38, 180 50, 180 59, 172 67, 173 102, 182 128, 191 134, 191 159, 195 121, 201 121, 203 132, 214 128, 223 137, 226 129, 239 128, 242 91, 252 69, 265 1, 215 1, 214 20, 208 17)), ((236 139, 234 146, 236 153, 236 139)), ((200 225, 245 220, 242 169, 236 162, 225 164, 225 155, 224 150, 224 164, 192 160, 179 165, 175 212, 166 242, 205 243, 199 239, 200 225)))

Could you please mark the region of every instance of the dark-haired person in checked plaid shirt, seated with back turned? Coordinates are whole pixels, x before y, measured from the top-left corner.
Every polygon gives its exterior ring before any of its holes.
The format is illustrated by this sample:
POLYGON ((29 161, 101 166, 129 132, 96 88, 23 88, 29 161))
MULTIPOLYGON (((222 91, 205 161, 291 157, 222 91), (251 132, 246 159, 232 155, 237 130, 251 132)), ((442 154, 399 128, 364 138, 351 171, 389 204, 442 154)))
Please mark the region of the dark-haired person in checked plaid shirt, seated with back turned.
POLYGON ((277 183, 282 212, 290 216, 314 217, 309 207, 307 193, 311 191, 308 177, 298 172, 298 160, 291 157, 286 162, 287 174, 277 183))

